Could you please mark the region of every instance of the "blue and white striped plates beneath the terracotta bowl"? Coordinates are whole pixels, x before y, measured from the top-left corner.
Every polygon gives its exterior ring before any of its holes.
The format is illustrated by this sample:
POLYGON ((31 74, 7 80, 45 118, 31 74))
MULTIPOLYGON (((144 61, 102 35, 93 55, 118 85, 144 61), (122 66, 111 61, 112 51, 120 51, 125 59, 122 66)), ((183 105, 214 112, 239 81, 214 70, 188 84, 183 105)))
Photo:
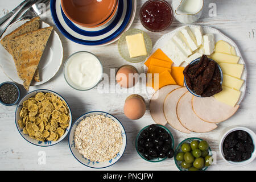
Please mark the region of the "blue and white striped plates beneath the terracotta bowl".
POLYGON ((73 42, 86 46, 104 46, 118 40, 133 23, 136 0, 118 0, 117 15, 109 24, 96 28, 81 27, 65 16, 60 0, 51 0, 53 22, 60 32, 73 42))

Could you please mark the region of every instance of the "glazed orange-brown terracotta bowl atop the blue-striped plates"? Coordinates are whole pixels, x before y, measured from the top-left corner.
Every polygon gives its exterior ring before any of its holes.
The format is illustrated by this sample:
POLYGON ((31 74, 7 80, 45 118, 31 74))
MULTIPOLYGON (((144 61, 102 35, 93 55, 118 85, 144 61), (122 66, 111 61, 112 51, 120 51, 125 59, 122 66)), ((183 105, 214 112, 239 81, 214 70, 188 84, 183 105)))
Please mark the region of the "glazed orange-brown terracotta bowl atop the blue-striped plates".
POLYGON ((97 26, 108 19, 118 0, 61 0, 65 15, 80 26, 97 26))

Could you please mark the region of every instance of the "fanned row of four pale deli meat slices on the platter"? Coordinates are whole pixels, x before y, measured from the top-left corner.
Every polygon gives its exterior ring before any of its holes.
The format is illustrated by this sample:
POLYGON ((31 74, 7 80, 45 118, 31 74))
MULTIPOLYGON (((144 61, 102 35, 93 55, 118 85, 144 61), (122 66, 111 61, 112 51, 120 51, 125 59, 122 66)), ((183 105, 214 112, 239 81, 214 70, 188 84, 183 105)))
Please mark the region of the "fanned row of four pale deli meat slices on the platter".
POLYGON ((214 97, 193 96, 187 88, 167 85, 159 89, 150 101, 150 113, 160 125, 170 124, 183 133, 206 133, 217 128, 217 123, 232 117, 238 110, 214 97))

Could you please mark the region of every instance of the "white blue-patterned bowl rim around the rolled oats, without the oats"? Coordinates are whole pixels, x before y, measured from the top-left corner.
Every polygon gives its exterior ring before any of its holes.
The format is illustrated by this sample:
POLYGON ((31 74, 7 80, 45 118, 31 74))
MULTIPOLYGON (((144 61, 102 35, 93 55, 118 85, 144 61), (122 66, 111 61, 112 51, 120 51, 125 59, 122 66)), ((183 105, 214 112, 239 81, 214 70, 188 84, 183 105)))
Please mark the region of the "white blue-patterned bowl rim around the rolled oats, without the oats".
POLYGON ((103 111, 91 111, 89 113, 86 113, 84 115, 81 115, 72 125, 70 133, 69 133, 69 138, 68 138, 68 143, 69 143, 69 148, 73 154, 73 156, 81 163, 84 164, 87 167, 90 168, 106 168, 109 166, 112 166, 114 163, 118 162, 118 160, 122 157, 123 153, 125 152, 126 148, 126 143, 127 143, 127 137, 126 137, 126 132, 125 129, 123 128, 122 123, 115 118, 113 115, 109 113, 105 113, 103 111), (84 158, 83 155, 79 154, 79 151, 75 148, 75 141, 74 141, 74 133, 77 125, 82 121, 82 119, 85 119, 86 117, 89 117, 90 115, 104 115, 105 117, 109 117, 112 119, 117 125, 120 127, 121 132, 122 132, 122 138, 123 138, 123 145, 117 156, 115 156, 114 159, 111 159, 106 162, 92 162, 90 159, 84 158))

